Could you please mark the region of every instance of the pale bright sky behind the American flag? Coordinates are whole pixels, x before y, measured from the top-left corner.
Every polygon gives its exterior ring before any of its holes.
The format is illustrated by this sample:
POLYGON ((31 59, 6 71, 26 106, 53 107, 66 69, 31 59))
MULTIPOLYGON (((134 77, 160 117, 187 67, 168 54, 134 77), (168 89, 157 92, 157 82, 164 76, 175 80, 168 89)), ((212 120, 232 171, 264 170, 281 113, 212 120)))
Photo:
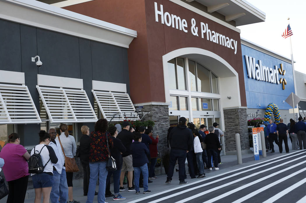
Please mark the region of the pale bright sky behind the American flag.
POLYGON ((291 36, 294 70, 306 74, 304 63, 306 49, 306 8, 305 0, 247 0, 259 10, 266 13, 266 20, 262 23, 238 26, 241 30, 240 36, 251 42, 270 49, 278 54, 291 59, 290 39, 283 38, 290 17, 290 27, 293 32, 291 36))

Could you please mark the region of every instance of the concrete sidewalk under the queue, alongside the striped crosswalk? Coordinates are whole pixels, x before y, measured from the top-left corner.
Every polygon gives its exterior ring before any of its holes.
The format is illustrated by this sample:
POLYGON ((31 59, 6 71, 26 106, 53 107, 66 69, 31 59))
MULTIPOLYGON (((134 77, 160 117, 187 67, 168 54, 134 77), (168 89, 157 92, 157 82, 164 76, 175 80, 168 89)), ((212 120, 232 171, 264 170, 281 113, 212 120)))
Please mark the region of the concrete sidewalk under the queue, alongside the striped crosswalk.
MULTIPOLYGON (((292 150, 291 147, 291 142, 290 139, 288 139, 288 145, 289 145, 289 152, 295 152, 297 150, 292 150)), ((241 167, 245 167, 248 165, 252 165, 255 163, 259 163, 261 161, 267 161, 271 158, 275 158, 278 156, 282 156, 285 155, 285 146, 283 144, 283 153, 279 153, 279 149, 278 146, 276 146, 274 144, 274 150, 275 153, 271 153, 271 152, 267 152, 267 157, 263 158, 262 156, 260 156, 260 160, 259 161, 255 161, 254 160, 254 155, 253 154, 243 154, 242 155, 242 164, 237 164, 237 155, 224 155, 221 156, 221 160, 222 160, 222 165, 219 165, 219 169, 218 171, 215 171, 214 169, 212 171, 209 170, 205 170, 206 176, 207 177, 211 177, 211 176, 215 176, 217 174, 221 174, 224 172, 229 172, 235 169, 239 169, 241 167)), ((176 166, 176 168, 178 169, 178 166, 176 166)), ((186 165, 186 172, 188 171, 187 165, 186 165)), ((159 178, 156 180, 153 180, 153 183, 149 183, 149 190, 152 191, 152 193, 150 194, 155 194, 164 190, 169 190, 171 188, 175 188, 179 186, 179 180, 178 180, 178 172, 174 172, 174 176, 173 176, 173 180, 171 182, 171 184, 166 184, 166 175, 163 173, 162 175, 158 176, 159 178)), ((199 179, 191 179, 189 174, 187 173, 187 179, 185 181, 188 181, 188 183, 192 183, 195 182, 199 179)), ((83 196, 83 179, 77 179, 73 181, 73 198, 76 201, 80 201, 81 203, 86 202, 87 200, 87 196, 83 196)), ((128 192, 127 191, 127 185, 124 185, 124 187, 126 188, 125 191, 120 192, 120 194, 123 197, 126 197, 126 200, 121 200, 120 202, 129 202, 132 200, 136 200, 140 197, 144 197, 145 195, 150 195, 150 194, 143 194, 143 188, 140 188, 140 194, 135 194, 134 192, 128 192)), ((99 186, 96 186, 96 191, 98 191, 99 186)), ((110 191, 112 193, 114 193, 114 186, 113 184, 110 185, 110 191)), ((34 189, 29 189, 27 191, 27 199, 25 199, 25 203, 33 203, 34 202, 34 198, 35 198, 35 192, 34 189)), ((106 198, 106 202, 111 202, 113 201, 112 198, 106 198)), ((0 203, 4 203, 6 202, 6 198, 3 198, 2 200, 0 200, 0 203)), ((94 202, 97 202, 97 196, 95 196, 94 198, 94 202)))

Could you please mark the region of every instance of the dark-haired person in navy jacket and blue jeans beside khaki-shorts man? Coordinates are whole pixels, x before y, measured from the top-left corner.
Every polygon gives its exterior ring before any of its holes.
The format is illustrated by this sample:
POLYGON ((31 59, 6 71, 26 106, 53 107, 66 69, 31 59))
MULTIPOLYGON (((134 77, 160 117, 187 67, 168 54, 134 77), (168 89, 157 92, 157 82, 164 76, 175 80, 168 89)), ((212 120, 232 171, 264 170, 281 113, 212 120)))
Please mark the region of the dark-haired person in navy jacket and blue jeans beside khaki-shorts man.
POLYGON ((133 159, 133 168, 134 168, 134 184, 136 194, 140 194, 139 189, 139 177, 140 172, 142 172, 144 177, 144 194, 151 193, 148 188, 148 166, 149 160, 147 158, 147 154, 149 154, 149 150, 147 146, 141 142, 141 134, 136 132, 134 134, 134 142, 131 144, 131 152, 132 152, 132 159, 133 159))

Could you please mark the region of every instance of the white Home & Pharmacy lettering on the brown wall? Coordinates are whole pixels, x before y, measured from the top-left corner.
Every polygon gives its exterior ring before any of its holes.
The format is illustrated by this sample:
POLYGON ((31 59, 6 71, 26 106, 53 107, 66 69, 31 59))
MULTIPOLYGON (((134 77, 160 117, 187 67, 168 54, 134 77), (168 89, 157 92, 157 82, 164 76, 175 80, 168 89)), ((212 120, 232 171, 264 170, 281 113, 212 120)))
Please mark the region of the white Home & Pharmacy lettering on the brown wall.
MULTIPOLYGON (((174 14, 170 14, 169 12, 165 12, 164 13, 164 9, 163 9, 163 5, 160 5, 159 8, 157 6, 157 3, 154 2, 154 8, 155 8, 155 22, 160 22, 161 24, 165 24, 168 27, 173 27, 177 30, 182 30, 184 32, 188 32, 187 28, 187 21, 185 19, 182 19, 181 17, 174 15, 174 14)), ((196 20, 194 18, 191 19, 191 33, 192 35, 198 37, 198 27, 196 26, 196 20)), ((216 44, 225 46, 229 49, 233 49, 234 50, 234 54, 237 53, 237 41, 226 37, 223 34, 220 34, 218 32, 215 32, 213 30, 210 30, 208 28, 208 24, 200 22, 200 29, 201 29, 201 38, 204 39, 204 33, 206 33, 206 40, 209 40, 211 42, 214 42, 216 44)), ((269 76, 270 78, 270 76, 269 76)))

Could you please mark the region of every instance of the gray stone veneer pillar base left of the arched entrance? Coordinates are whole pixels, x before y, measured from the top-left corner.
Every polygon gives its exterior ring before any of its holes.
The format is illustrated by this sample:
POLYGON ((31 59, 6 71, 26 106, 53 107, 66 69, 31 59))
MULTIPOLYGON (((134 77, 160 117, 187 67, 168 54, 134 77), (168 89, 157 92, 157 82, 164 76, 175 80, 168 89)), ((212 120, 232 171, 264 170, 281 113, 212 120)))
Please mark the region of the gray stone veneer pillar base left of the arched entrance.
POLYGON ((167 147, 167 133, 170 127, 169 122, 169 107, 167 105, 146 105, 143 107, 142 112, 150 112, 147 114, 143 121, 151 120, 155 122, 153 127, 153 136, 159 135, 158 141, 158 158, 168 150, 167 147))

